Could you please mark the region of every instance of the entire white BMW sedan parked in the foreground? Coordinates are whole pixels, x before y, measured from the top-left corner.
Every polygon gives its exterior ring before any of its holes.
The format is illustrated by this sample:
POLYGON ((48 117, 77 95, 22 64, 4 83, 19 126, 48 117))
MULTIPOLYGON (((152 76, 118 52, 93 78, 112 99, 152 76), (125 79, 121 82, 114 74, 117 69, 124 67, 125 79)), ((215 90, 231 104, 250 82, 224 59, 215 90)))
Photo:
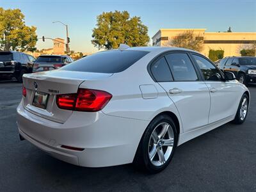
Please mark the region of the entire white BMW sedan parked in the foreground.
POLYGON ((250 93, 198 52, 102 51, 58 70, 24 74, 20 138, 79 166, 166 168, 175 148, 246 119, 250 93))

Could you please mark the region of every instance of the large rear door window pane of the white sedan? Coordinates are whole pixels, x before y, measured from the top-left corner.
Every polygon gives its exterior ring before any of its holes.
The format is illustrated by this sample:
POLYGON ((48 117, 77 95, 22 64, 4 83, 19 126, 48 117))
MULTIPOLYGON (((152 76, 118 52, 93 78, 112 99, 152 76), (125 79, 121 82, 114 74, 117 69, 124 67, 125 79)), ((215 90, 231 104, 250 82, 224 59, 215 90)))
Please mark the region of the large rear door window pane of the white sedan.
POLYGON ((171 53, 166 59, 172 70, 174 81, 196 81, 195 68, 186 53, 171 53))

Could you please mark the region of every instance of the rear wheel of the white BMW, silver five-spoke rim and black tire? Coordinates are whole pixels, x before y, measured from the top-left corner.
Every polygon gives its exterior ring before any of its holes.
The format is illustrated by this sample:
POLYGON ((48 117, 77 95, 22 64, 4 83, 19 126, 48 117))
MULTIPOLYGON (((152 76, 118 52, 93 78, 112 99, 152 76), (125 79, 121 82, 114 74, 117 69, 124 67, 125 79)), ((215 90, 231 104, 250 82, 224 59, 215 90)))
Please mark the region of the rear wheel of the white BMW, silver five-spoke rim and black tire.
POLYGON ((177 129, 172 118, 168 115, 157 116, 145 130, 133 164, 149 173, 161 172, 172 160, 177 141, 177 129))

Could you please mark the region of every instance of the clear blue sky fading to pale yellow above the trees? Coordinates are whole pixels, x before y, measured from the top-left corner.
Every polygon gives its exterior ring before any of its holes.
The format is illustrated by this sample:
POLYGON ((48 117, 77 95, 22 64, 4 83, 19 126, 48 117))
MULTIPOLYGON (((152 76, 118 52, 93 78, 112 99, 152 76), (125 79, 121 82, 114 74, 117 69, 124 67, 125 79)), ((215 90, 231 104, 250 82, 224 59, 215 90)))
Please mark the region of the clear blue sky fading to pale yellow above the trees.
MULTIPOLYGON (((36 26, 38 38, 65 38, 68 24, 70 49, 97 52, 91 44, 92 29, 102 12, 127 10, 141 17, 150 40, 161 28, 204 28, 207 32, 256 32, 256 0, 0 0, 4 9, 19 8, 28 26, 36 26)), ((152 40, 151 40, 152 43, 152 40)), ((38 49, 52 47, 51 40, 38 40, 38 49)))

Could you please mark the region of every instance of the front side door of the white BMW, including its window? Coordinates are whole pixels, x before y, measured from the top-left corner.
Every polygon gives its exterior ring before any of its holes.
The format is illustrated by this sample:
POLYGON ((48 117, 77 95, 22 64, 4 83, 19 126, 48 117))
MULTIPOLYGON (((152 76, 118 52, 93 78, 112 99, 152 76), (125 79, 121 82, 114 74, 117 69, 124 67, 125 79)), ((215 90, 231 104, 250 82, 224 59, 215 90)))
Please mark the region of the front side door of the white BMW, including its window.
POLYGON ((211 94, 209 124, 234 115, 234 111, 236 111, 234 110, 234 106, 236 106, 234 104, 237 103, 236 84, 223 81, 223 74, 206 58, 198 54, 192 55, 211 94))

